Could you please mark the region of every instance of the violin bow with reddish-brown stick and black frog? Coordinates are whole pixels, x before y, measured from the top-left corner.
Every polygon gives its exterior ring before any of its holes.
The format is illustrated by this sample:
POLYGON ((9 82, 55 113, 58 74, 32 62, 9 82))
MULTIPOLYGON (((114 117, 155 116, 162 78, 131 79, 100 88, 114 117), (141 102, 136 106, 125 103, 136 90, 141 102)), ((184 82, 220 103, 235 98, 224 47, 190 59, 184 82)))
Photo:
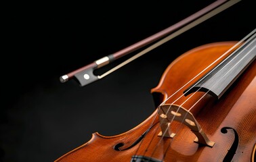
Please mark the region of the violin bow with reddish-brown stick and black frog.
POLYGON ((122 49, 120 51, 117 51, 116 53, 107 55, 105 57, 102 57, 101 59, 93 61, 92 63, 89 63, 88 65, 85 65, 82 68, 74 70, 73 72, 70 72, 63 76, 60 76, 60 82, 67 82, 68 80, 70 80, 72 78, 76 78, 77 81, 79 82, 80 86, 85 86, 91 82, 100 80, 101 78, 104 78, 105 76, 114 72, 115 70, 118 70, 119 68, 123 67, 123 65, 126 65, 127 63, 148 53, 152 49, 155 49, 156 47, 163 45, 163 43, 170 41, 172 38, 175 38, 175 36, 178 36, 179 34, 186 32, 187 30, 189 30, 190 28, 193 28, 194 26, 200 24, 201 22, 204 22, 205 20, 208 20, 209 18, 215 16, 216 14, 219 14, 221 11, 238 3, 238 1, 241 1, 241 0, 230 0, 230 1, 218 0, 218 1, 215 1, 214 3, 211 3, 207 7, 201 9, 200 11, 197 11, 195 14, 192 14, 188 18, 185 18, 184 20, 177 22, 176 24, 173 24, 172 26, 169 26, 169 28, 165 28, 164 30, 157 32, 156 34, 153 34, 152 36, 149 36, 148 38, 144 38, 142 41, 139 41, 133 45, 130 45, 129 47, 126 47, 125 49, 122 49), (163 38, 163 37, 165 37, 165 38, 163 38), (160 38, 163 38, 163 39, 158 41, 160 38), (102 74, 100 76, 95 76, 93 74, 94 70, 96 70, 98 68, 102 68, 104 65, 108 65, 112 61, 119 59, 120 57, 123 57, 133 51, 136 51, 137 49, 145 47, 146 45, 149 45, 150 43, 153 43, 154 41, 158 41, 158 42, 154 43, 153 45, 150 45, 150 47, 144 49, 140 53, 133 55, 133 57, 130 57, 126 61, 123 61, 123 63, 116 65, 114 68, 108 70, 104 74, 102 74))

